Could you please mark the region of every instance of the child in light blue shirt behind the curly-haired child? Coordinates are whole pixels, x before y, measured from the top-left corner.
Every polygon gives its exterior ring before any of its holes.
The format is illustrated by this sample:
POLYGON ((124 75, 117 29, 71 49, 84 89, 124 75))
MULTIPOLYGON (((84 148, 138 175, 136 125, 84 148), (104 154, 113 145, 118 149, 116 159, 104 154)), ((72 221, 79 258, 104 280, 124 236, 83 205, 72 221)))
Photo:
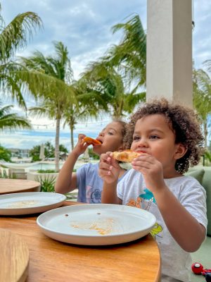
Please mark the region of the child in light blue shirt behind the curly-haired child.
MULTIPOLYGON (((126 131, 124 121, 115 120, 106 125, 96 137, 101 145, 94 145, 93 151, 101 155, 111 150, 122 149, 123 137, 126 131)), ((58 193, 67 193, 78 188, 77 201, 87 202, 89 204, 101 203, 101 191, 103 189, 103 180, 98 176, 97 164, 84 164, 74 173, 73 168, 80 154, 83 154, 89 144, 84 143, 86 135, 79 134, 78 142, 63 167, 56 180, 55 191, 58 193)), ((127 173, 124 168, 120 169, 119 180, 127 173)))

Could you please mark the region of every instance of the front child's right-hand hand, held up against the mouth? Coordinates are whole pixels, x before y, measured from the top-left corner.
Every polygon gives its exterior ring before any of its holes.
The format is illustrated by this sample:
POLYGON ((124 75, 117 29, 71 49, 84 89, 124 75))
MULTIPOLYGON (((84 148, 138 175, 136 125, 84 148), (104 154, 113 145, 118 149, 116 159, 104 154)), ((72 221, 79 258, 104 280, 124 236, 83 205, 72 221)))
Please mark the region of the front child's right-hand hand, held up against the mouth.
POLYGON ((132 168, 143 174, 146 187, 151 190, 151 192, 155 192, 164 187, 165 182, 163 180, 162 164, 150 154, 143 153, 141 156, 134 159, 132 161, 132 168))

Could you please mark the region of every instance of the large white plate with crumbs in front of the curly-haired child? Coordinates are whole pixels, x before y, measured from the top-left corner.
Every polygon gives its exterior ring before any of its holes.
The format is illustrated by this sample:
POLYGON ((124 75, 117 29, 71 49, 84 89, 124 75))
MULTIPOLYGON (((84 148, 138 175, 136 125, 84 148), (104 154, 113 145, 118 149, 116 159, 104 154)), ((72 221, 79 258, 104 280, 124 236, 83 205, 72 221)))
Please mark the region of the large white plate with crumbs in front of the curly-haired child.
POLYGON ((155 216, 120 204, 79 204, 41 214, 37 224, 47 236, 78 245, 113 245, 147 235, 155 216))

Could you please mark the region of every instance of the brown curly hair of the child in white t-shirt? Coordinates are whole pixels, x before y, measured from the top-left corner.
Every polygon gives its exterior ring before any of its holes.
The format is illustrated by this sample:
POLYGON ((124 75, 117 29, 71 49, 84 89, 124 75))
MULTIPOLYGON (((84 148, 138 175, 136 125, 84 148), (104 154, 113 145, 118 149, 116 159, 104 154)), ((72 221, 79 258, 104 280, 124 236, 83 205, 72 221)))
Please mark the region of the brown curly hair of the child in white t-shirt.
POLYGON ((130 148, 133 141, 134 127, 136 121, 143 116, 162 114, 170 125, 174 135, 175 143, 181 143, 187 149, 181 159, 177 159, 175 169, 179 173, 188 171, 190 164, 195 166, 203 153, 203 134, 201 133, 199 118, 197 114, 186 106, 168 102, 167 99, 155 99, 141 106, 130 118, 127 124, 127 133, 124 137, 124 148, 130 148))

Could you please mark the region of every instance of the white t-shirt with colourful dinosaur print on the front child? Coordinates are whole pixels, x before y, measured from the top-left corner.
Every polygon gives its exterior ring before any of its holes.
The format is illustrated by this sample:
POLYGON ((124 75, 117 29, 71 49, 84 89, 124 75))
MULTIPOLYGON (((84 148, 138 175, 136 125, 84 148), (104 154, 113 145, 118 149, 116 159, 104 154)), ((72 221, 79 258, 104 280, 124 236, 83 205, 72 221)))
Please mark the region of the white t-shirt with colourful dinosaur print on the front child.
MULTIPOLYGON (((188 212, 207 228, 206 195, 203 186, 191 176, 165 179, 165 183, 188 212)), ((141 205, 142 209, 155 215, 157 220, 151 234, 160 247, 162 282, 190 281, 188 274, 191 273, 191 255, 179 247, 168 231, 153 193, 146 188, 142 174, 131 169, 124 180, 118 183, 117 196, 122 200, 122 204, 134 207, 141 205)))

